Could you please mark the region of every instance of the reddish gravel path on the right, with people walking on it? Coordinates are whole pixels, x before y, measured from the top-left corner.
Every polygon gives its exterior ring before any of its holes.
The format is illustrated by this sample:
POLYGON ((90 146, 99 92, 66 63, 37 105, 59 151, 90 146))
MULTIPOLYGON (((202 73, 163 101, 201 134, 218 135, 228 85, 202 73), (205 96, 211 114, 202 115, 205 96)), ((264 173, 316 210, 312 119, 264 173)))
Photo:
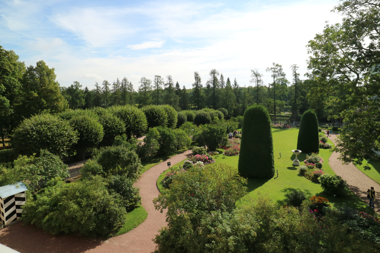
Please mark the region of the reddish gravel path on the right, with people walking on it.
MULTIPOLYGON (((334 142, 336 145, 335 139, 337 138, 337 134, 331 133, 331 137, 329 139, 334 142)), ((350 188, 353 193, 355 193, 361 200, 368 204, 367 199, 367 189, 370 187, 375 188, 375 192, 377 193, 377 198, 379 198, 380 193, 380 185, 376 183, 374 180, 370 179, 363 172, 359 171, 355 165, 350 164, 342 164, 342 161, 338 160, 339 153, 333 152, 329 158, 329 164, 331 169, 338 175, 341 176, 342 179, 347 181, 348 188, 350 188)), ((375 212, 380 214, 380 202, 378 199, 375 199, 375 212)))

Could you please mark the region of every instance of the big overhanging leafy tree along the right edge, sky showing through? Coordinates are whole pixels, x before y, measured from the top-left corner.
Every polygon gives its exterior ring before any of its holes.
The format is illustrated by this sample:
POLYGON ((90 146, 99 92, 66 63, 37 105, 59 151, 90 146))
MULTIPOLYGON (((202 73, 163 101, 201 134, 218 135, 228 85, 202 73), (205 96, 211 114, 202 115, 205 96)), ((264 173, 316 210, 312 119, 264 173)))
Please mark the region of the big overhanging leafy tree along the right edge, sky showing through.
POLYGON ((315 87, 310 87, 310 101, 340 90, 338 98, 345 102, 344 110, 337 115, 345 126, 336 146, 345 163, 361 164, 373 149, 379 150, 378 5, 374 0, 341 2, 334 11, 344 14, 342 24, 327 24, 308 44, 312 56, 307 75, 316 81, 315 87))

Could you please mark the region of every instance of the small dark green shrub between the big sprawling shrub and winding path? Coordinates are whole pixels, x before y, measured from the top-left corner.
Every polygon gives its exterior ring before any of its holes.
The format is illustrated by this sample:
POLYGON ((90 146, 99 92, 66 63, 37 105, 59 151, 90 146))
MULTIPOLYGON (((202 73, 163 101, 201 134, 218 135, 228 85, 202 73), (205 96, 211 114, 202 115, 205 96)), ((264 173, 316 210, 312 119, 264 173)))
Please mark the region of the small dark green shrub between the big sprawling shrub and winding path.
POLYGON ((131 209, 138 204, 141 204, 139 188, 133 187, 133 179, 124 175, 111 175, 107 177, 108 191, 117 193, 121 196, 123 205, 127 209, 131 209))

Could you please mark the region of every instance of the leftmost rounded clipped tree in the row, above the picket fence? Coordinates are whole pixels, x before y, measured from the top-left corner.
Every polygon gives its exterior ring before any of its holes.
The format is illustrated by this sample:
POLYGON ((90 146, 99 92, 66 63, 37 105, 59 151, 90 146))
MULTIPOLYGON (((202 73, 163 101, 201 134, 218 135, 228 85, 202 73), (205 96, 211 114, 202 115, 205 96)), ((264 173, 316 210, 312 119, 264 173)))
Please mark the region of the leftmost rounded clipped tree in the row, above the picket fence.
POLYGON ((25 119, 14 130, 12 146, 22 155, 40 153, 46 149, 59 157, 67 157, 77 143, 77 132, 66 122, 50 114, 25 119))

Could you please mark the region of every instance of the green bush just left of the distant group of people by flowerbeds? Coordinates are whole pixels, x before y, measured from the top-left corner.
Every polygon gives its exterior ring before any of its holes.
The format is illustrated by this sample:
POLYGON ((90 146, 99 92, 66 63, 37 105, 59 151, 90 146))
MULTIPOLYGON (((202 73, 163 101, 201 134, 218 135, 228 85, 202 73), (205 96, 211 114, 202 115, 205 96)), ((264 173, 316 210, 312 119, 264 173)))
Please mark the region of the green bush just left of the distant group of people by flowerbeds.
POLYGON ((199 134, 199 144, 206 145, 209 150, 216 150, 218 147, 226 145, 227 136, 225 128, 217 125, 205 125, 199 134))

